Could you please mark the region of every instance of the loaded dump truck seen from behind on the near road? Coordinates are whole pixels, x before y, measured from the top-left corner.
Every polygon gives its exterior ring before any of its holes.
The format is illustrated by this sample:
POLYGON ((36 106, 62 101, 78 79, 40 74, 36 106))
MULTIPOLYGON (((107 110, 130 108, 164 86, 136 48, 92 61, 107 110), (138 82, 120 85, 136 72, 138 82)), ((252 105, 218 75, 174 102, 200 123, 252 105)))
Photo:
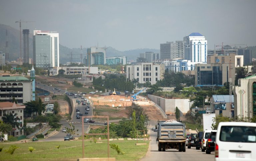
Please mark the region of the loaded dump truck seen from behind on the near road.
POLYGON ((158 151, 177 149, 186 151, 185 124, 176 120, 158 121, 156 125, 158 151))

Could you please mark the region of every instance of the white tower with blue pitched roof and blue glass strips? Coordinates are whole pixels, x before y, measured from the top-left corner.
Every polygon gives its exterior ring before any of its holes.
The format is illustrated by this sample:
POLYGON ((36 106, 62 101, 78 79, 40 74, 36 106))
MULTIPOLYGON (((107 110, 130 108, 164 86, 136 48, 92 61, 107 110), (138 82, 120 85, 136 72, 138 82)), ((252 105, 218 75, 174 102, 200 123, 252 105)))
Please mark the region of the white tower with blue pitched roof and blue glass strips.
POLYGON ((185 59, 191 62, 206 62, 207 40, 200 33, 191 33, 183 38, 185 46, 185 59))

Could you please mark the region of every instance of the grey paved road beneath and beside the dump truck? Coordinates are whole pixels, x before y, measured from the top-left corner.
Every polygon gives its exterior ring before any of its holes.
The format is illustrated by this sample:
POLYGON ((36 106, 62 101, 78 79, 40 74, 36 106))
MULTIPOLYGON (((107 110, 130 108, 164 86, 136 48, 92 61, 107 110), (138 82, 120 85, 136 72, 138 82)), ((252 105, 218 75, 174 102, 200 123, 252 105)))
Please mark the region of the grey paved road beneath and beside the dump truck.
POLYGON ((152 127, 155 127, 156 123, 157 121, 150 121, 151 127, 148 128, 148 133, 151 138, 150 146, 146 157, 141 159, 141 161, 214 161, 214 153, 206 154, 202 152, 201 149, 196 150, 195 147, 191 147, 191 149, 186 147, 186 152, 179 152, 176 149, 168 149, 165 152, 158 151, 158 142, 156 142, 157 132, 151 130, 152 127))

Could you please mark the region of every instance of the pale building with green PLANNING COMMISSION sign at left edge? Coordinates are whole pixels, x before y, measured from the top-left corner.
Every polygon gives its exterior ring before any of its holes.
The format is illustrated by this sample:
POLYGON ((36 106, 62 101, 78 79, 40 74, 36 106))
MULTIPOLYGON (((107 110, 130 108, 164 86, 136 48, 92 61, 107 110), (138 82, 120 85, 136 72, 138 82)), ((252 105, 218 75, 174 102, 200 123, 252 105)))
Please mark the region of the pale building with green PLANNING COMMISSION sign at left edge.
POLYGON ((18 104, 32 100, 32 81, 22 76, 0 77, 0 101, 12 102, 13 97, 18 104))

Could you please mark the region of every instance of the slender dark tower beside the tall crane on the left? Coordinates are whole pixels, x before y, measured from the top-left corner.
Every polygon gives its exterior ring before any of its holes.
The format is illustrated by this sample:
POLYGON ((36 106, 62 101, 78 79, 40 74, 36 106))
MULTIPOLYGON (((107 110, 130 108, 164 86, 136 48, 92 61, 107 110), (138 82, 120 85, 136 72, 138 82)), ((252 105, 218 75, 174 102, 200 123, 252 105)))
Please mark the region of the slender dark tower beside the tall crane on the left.
POLYGON ((29 63, 29 29, 24 29, 23 33, 23 63, 29 63))

